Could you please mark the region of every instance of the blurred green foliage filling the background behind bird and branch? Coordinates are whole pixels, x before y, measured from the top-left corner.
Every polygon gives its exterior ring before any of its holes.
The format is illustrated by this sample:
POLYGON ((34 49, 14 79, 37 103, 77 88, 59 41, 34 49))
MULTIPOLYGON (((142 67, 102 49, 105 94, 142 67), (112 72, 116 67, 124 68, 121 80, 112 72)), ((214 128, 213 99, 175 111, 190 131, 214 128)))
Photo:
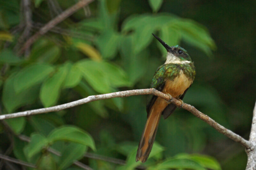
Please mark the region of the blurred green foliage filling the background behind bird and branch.
MULTIPOLYGON (((31 1, 31 34, 76 2, 31 1)), ((95 0, 39 38, 27 56, 19 56, 25 42, 20 40, 25 24, 22 3, 0 0, 1 113, 148 88, 166 55, 151 35, 156 33, 170 46, 187 49, 195 62, 196 80, 184 102, 248 137, 256 91, 256 4, 247 3, 95 0)), ((31 139, 27 143, 12 137, 11 156, 39 169, 80 169, 72 165, 79 159, 93 169, 134 169, 141 165, 135 155, 146 122, 146 100, 146 96, 114 98, 8 119, 5 122, 13 133, 31 139), (47 152, 48 147, 62 156, 47 152), (127 163, 82 159, 87 151, 127 163)), ((10 145, 4 123, 0 132, 2 153, 10 145)), ((143 164, 159 170, 239 170, 245 165, 246 154, 239 144, 178 109, 161 120, 143 164)))

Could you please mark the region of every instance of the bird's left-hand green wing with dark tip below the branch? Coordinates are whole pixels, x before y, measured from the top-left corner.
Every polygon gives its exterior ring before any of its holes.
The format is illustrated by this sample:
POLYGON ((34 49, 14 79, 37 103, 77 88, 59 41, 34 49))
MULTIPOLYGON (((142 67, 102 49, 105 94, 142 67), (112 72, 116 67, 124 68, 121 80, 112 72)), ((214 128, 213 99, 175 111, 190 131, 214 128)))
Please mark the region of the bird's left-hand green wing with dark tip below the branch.
MULTIPOLYGON (((151 83, 151 88, 155 88, 158 91, 162 91, 165 85, 165 81, 164 81, 164 74, 165 73, 165 65, 161 65, 157 68, 155 74, 154 74, 154 78, 152 80, 151 83)), ((157 99, 157 96, 151 96, 148 100, 148 104, 147 104, 147 113, 149 115, 150 109, 153 106, 153 104, 155 103, 157 99)))

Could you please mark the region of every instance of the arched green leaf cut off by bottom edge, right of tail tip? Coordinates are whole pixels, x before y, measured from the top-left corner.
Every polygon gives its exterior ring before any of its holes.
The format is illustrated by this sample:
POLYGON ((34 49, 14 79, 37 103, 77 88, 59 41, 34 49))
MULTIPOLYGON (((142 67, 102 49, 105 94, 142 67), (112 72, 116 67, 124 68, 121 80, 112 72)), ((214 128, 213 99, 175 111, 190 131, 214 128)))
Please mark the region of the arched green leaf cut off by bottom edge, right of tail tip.
POLYGON ((164 170, 169 168, 187 168, 195 170, 206 170, 203 166, 197 162, 189 159, 170 159, 162 163, 159 163, 157 166, 150 167, 149 169, 164 170))

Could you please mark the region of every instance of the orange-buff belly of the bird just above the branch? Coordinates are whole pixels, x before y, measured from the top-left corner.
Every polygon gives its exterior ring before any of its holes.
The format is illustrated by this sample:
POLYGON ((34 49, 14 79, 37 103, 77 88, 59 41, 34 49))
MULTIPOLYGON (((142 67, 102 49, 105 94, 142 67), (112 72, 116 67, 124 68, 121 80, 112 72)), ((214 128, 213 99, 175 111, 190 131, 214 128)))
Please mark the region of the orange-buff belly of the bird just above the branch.
POLYGON ((169 93, 172 97, 177 98, 184 93, 192 82, 193 81, 189 79, 181 70, 179 76, 173 80, 166 80, 163 92, 169 93))

